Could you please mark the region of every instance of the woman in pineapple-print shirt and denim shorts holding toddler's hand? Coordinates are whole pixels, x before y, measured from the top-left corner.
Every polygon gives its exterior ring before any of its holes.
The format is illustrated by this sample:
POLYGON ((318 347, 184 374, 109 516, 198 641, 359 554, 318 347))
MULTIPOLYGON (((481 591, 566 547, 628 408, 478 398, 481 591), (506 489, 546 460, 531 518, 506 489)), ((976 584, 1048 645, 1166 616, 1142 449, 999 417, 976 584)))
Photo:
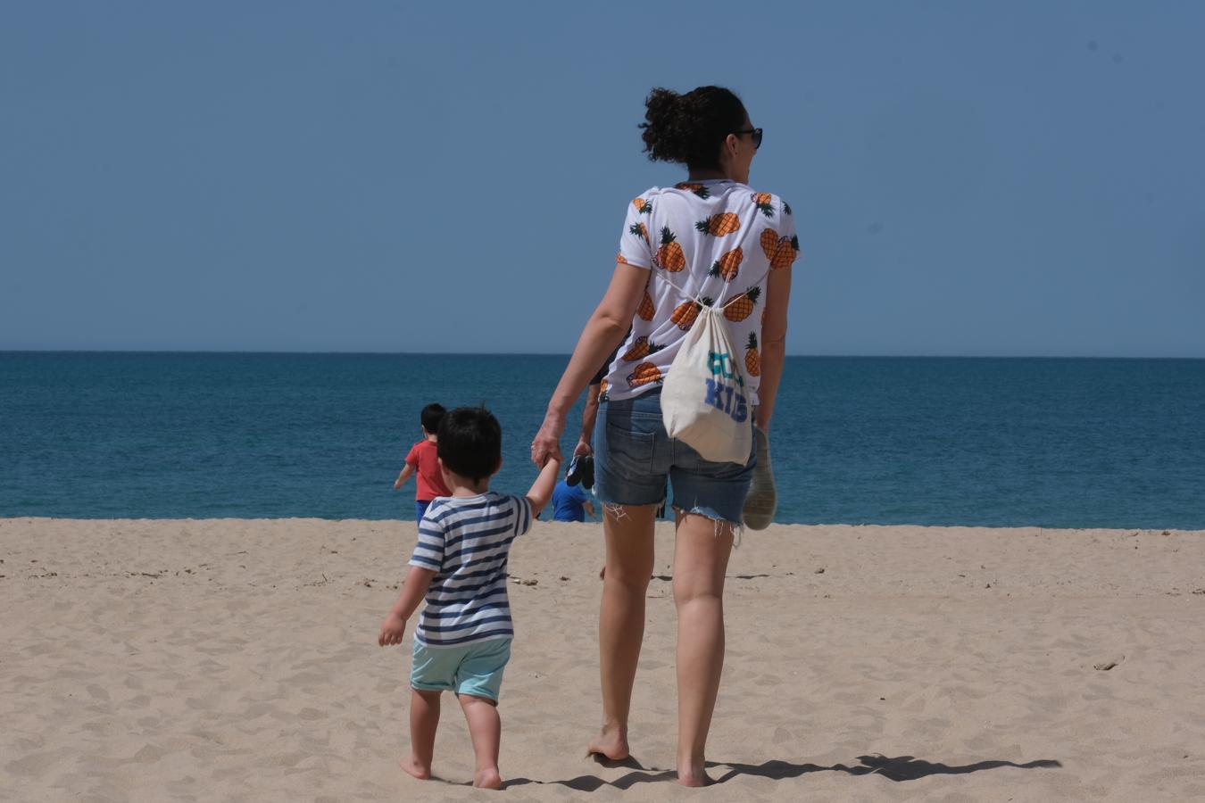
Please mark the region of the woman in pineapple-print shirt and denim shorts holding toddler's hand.
POLYGON ((724 307, 731 342, 743 349, 733 356, 743 365, 753 423, 769 429, 799 241, 790 207, 748 187, 762 129, 753 128, 735 94, 719 87, 684 95, 654 89, 646 106, 640 128, 648 158, 684 165, 687 181, 654 187, 629 205, 611 285, 548 402, 531 459, 542 466, 560 456, 566 412, 619 346, 594 430, 606 574, 599 615, 602 728, 589 749, 612 760, 629 755, 654 514, 669 480, 677 516, 678 783, 701 786, 710 780, 704 748, 724 660, 724 572, 756 453, 743 466, 710 462, 670 438, 662 424, 660 383, 698 315, 693 299, 711 300, 724 307))

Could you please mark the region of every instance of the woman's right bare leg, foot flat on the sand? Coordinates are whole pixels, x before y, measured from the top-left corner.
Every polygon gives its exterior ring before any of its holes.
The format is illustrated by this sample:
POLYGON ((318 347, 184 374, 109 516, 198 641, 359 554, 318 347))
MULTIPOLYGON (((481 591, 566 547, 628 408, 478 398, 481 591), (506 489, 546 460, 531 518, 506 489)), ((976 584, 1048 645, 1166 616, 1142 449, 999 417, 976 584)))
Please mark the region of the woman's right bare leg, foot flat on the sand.
POLYGON ((678 614, 678 783, 705 786, 705 748, 724 668, 724 572, 733 527, 678 514, 674 542, 674 603, 678 614))

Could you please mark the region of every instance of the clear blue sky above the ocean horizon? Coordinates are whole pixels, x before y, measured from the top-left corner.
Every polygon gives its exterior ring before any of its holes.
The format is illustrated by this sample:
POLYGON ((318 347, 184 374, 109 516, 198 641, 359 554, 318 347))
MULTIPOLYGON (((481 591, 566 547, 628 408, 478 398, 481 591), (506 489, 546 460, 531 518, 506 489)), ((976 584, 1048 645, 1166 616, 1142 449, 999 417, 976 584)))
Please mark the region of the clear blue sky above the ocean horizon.
POLYGON ((27 2, 0 349, 568 352, 654 85, 790 201, 792 354, 1205 356, 1205 4, 27 2))

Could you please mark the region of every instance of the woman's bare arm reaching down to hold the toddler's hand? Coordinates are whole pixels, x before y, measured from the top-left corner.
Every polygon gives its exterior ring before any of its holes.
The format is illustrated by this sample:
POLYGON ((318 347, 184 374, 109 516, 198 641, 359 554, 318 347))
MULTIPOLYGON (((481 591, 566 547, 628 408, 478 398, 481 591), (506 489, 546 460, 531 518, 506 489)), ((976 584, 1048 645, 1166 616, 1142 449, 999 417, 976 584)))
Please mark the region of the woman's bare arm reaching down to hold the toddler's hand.
POLYGON ((536 466, 542 467, 548 457, 560 460, 560 435, 565 431, 565 417, 590 377, 598 373, 602 360, 618 348, 643 297, 648 277, 648 268, 624 262, 616 264, 611 285, 594 309, 594 314, 586 321, 582 336, 574 349, 574 356, 569 359, 569 365, 548 401, 543 424, 531 442, 531 461, 536 466))

